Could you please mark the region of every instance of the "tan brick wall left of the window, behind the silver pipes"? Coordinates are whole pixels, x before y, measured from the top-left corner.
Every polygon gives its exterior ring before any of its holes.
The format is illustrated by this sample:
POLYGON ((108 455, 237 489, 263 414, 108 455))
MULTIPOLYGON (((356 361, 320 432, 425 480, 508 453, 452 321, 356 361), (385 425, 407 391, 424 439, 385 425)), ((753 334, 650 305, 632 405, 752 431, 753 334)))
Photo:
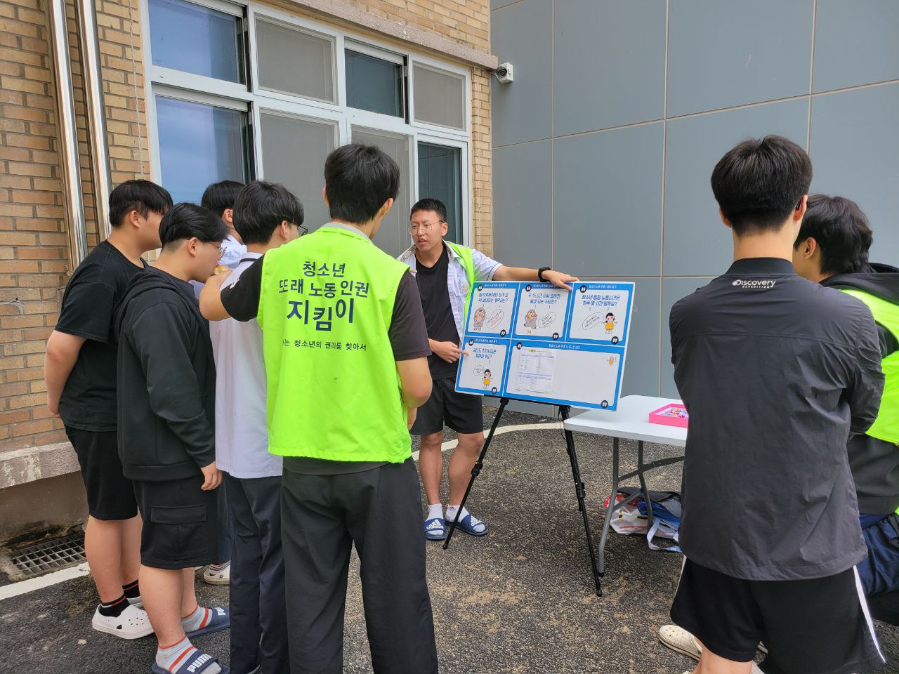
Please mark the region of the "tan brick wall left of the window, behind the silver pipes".
MULTIPOLYGON (((139 22, 131 21, 138 2, 98 3, 113 184, 149 173, 139 22)), ((60 422, 47 411, 43 382, 43 353, 69 266, 45 6, 38 0, 0 0, 0 451, 65 439, 60 422)), ((71 2, 68 34, 93 246, 100 239, 71 2)))

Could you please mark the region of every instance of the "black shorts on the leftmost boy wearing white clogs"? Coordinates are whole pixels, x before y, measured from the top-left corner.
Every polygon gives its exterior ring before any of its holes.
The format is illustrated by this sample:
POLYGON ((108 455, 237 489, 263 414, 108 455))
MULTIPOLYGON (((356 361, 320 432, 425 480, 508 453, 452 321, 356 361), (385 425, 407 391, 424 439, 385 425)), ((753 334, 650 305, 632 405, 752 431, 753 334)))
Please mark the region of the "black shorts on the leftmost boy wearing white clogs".
POLYGON ((122 473, 115 430, 66 427, 75 448, 87 492, 87 511, 94 519, 131 519, 138 514, 134 486, 122 473))

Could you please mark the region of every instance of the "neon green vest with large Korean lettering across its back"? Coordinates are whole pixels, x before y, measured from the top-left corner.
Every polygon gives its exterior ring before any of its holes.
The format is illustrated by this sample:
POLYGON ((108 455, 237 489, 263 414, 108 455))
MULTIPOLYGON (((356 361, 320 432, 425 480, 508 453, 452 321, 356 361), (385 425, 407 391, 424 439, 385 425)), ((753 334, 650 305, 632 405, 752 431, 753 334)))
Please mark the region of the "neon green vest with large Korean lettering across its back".
POLYGON ((338 227, 265 253, 258 321, 272 454, 391 463, 411 456, 387 334, 408 270, 361 232, 338 227))

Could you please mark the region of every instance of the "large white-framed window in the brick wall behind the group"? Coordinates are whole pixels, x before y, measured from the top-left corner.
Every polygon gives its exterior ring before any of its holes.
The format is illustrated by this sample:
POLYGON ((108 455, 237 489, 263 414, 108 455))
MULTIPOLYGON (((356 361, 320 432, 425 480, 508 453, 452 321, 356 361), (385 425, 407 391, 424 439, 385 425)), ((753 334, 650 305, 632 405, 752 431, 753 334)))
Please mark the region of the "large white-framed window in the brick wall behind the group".
POLYGON ((210 182, 281 182, 328 221, 325 157, 376 145, 401 186, 375 243, 410 243, 409 208, 447 205, 448 238, 470 240, 467 70, 259 4, 149 0, 147 111, 156 180, 199 201, 210 182))

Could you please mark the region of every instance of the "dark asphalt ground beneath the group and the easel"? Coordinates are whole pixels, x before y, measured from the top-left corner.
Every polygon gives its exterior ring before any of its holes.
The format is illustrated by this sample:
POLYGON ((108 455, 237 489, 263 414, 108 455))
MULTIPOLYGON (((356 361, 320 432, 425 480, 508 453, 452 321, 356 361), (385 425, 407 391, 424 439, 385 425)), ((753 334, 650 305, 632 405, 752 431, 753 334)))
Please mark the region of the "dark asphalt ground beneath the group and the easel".
MULTIPOLYGON (((485 410, 485 424, 494 411, 485 410)), ((544 422, 507 412, 503 426, 544 422)), ((610 441, 577 435, 595 532, 610 488, 610 441)), ((626 445, 629 447, 629 445, 626 445)), ((672 456, 648 448, 647 460, 672 456)), ((636 452, 635 452, 636 453, 636 452)), ((624 452, 625 464, 632 460, 624 452)), ((650 479, 678 489, 680 465, 650 479)), ((643 537, 610 535, 604 596, 592 589, 583 526, 559 430, 524 430, 494 439, 470 510, 491 528, 484 538, 454 537, 448 551, 428 545, 428 572, 442 674, 681 674, 694 666, 656 639, 669 622, 681 556, 651 552, 643 537)), ((598 540, 598 539, 597 539, 598 540)), ((344 671, 370 672, 357 567, 351 571, 344 671)), ((200 602, 227 603, 227 589, 198 581, 200 602)), ((89 577, 0 601, 0 672, 63 674, 147 672, 156 643, 124 642, 94 632, 89 577)), ((877 624, 899 672, 899 628, 877 624)), ((227 662, 228 633, 196 644, 227 662)), ((410 672, 409 674, 414 674, 410 672)))

